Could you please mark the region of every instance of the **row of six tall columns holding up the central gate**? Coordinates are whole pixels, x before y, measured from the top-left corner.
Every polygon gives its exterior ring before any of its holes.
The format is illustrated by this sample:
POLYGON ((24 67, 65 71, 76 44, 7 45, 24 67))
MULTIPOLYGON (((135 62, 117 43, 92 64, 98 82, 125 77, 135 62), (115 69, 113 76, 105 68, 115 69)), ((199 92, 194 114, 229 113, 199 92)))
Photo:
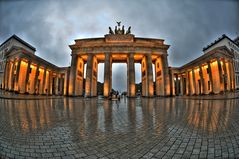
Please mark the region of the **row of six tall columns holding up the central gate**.
MULTIPOLYGON (((104 59, 101 61, 97 59, 97 54, 87 54, 87 59, 83 59, 84 55, 72 52, 72 62, 70 70, 66 73, 69 76, 69 86, 65 82, 65 95, 70 96, 97 96, 97 76, 98 76, 98 63, 104 63, 104 92, 103 95, 108 97, 112 91, 112 63, 113 53, 105 53, 104 59), (86 78, 84 83, 84 64, 86 67, 86 78), (68 92, 67 92, 68 89, 68 92)), ((127 53, 125 62, 127 63, 127 96, 135 97, 135 61, 134 53, 127 53)), ((142 96, 153 97, 155 94, 158 96, 170 95, 170 83, 168 76, 168 62, 167 54, 157 55, 156 60, 152 60, 152 54, 142 54, 141 72, 142 72, 142 96), (152 64, 155 64, 155 81, 156 91, 154 90, 153 83, 153 69, 152 64), (155 94, 154 94, 155 93, 155 94)))

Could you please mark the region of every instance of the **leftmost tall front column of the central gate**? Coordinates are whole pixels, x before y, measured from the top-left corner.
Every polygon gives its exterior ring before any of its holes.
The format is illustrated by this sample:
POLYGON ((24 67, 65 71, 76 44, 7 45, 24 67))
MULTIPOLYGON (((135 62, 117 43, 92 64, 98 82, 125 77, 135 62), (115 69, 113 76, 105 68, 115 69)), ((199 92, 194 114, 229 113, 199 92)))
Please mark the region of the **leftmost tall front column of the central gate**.
POLYGON ((69 83, 69 95, 76 95, 76 75, 77 75, 77 62, 78 55, 74 52, 71 54, 71 70, 70 70, 70 83, 69 83))

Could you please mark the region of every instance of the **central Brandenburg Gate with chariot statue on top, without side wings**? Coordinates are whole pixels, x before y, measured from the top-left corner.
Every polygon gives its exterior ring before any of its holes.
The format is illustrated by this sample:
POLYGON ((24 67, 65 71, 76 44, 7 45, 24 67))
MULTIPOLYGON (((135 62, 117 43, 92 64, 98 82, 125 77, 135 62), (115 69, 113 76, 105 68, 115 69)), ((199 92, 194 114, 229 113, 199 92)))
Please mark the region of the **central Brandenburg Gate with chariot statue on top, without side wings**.
MULTIPOLYGON (((162 39, 135 37, 131 27, 127 30, 109 27, 109 34, 102 38, 75 40, 72 50, 71 67, 68 71, 68 95, 97 96, 98 63, 104 63, 104 96, 112 90, 112 63, 127 63, 127 96, 135 96, 135 63, 141 63, 142 96, 154 96, 153 69, 155 64, 155 93, 158 96, 170 95, 167 50, 169 45, 162 39), (87 64, 84 70, 84 64, 87 64), (83 89, 86 71, 85 89, 83 89), (85 94, 84 94, 85 90, 85 94)), ((66 76, 67 77, 67 76, 66 76)), ((67 81, 67 80, 66 80, 67 81)))

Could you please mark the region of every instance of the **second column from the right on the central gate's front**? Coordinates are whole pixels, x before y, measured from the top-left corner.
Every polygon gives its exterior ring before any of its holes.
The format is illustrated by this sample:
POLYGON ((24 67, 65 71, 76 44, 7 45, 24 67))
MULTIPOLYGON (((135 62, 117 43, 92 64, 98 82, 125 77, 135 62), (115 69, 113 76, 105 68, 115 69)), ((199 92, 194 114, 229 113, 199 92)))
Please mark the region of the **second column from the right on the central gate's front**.
POLYGON ((152 68, 152 57, 151 54, 146 55, 146 96, 152 97, 154 95, 154 85, 153 85, 153 68, 152 68))

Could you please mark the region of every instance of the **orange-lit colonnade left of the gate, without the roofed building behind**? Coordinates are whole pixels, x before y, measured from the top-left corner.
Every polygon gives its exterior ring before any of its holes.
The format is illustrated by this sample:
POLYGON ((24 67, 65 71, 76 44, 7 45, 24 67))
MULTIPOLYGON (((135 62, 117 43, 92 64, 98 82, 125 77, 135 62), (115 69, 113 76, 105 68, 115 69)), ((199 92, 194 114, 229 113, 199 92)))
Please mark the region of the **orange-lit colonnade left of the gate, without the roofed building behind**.
POLYGON ((54 68, 23 56, 8 58, 2 89, 27 94, 63 94, 64 75, 54 68))

